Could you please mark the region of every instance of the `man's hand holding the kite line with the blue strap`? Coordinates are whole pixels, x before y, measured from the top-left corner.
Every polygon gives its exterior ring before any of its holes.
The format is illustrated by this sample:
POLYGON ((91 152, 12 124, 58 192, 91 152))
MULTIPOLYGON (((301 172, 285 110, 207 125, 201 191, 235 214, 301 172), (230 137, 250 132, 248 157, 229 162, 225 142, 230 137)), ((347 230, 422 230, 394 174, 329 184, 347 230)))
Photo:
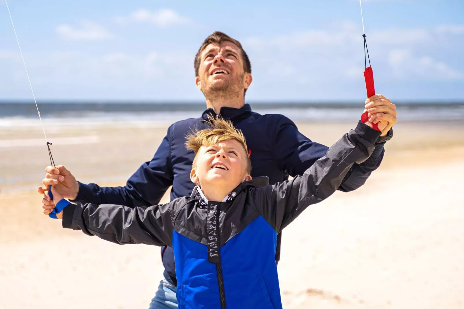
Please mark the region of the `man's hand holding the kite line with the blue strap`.
MULTIPOLYGON (((74 178, 66 167, 63 165, 58 165, 56 168, 47 166, 45 168, 45 172, 47 172, 47 174, 45 174, 45 178, 42 180, 45 188, 39 187, 37 189, 40 194, 44 194, 48 187, 53 185, 58 194, 63 195, 66 199, 76 199, 77 193, 79 193, 79 184, 77 183, 76 178, 74 178)), ((48 194, 46 195, 46 198, 50 201, 48 194)))

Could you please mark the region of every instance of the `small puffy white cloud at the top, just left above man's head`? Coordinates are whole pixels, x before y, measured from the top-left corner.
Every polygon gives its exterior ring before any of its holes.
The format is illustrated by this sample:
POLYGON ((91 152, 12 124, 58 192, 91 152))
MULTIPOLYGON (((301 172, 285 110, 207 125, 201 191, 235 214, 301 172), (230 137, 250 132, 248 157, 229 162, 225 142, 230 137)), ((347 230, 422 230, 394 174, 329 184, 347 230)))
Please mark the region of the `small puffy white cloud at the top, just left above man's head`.
POLYGON ((143 22, 151 23, 160 27, 174 26, 187 24, 189 19, 185 16, 181 16, 172 9, 164 8, 155 12, 151 12, 146 9, 140 9, 129 14, 129 16, 118 17, 116 21, 119 23, 126 22, 143 22))

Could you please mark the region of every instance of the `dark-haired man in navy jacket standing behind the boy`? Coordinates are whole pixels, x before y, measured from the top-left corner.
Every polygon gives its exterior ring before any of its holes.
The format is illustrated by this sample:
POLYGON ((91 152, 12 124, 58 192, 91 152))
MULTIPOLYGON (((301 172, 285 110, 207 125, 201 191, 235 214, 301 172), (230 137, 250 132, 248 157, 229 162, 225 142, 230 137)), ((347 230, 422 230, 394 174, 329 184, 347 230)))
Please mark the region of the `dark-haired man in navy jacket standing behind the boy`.
MULTIPOLYGON (((171 200, 190 196, 193 183, 190 171, 194 154, 185 146, 185 136, 192 129, 206 128, 208 116, 220 115, 232 121, 245 135, 251 150, 253 178, 268 176, 269 183, 287 180, 289 175, 303 174, 314 162, 326 154, 328 147, 312 142, 298 132, 295 124, 282 115, 259 115, 245 104, 245 92, 252 82, 251 63, 235 39, 222 32, 214 32, 200 46, 194 61, 195 83, 206 98, 207 109, 198 119, 176 122, 168 128, 153 159, 145 162, 133 174, 125 187, 99 187, 77 182, 63 166, 47 167, 43 180, 45 186, 55 185, 65 198, 79 203, 116 204, 129 207, 148 207, 158 204, 169 186, 171 200)), ((342 181, 338 190, 352 191, 361 187, 372 171, 380 166, 383 145, 392 136, 396 123, 395 105, 381 95, 366 101, 371 122, 385 124, 374 153, 361 164, 355 164, 342 181)), ((368 122, 367 125, 372 126, 368 122)), ((39 188, 39 193, 45 189, 39 188)), ((48 198, 43 200, 45 214, 52 211, 48 198)), ((280 257, 280 234, 277 239, 276 261, 280 257)), ((150 309, 177 308, 176 277, 172 248, 161 248, 165 267, 164 277, 150 309)))

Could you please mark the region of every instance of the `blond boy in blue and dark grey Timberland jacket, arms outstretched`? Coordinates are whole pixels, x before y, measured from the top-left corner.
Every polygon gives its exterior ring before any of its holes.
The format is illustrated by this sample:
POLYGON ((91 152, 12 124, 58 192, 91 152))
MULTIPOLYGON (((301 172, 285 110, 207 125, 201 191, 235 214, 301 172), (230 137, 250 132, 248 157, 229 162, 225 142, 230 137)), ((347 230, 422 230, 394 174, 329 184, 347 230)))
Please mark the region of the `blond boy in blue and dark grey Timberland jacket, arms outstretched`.
POLYGON ((302 176, 269 186, 267 178, 251 180, 243 134, 221 118, 210 125, 187 136, 197 185, 190 198, 146 209, 78 206, 52 187, 57 205, 68 204, 57 217, 64 228, 121 245, 172 246, 179 308, 282 308, 277 233, 334 193, 350 167, 372 154, 380 132, 359 122, 302 176))

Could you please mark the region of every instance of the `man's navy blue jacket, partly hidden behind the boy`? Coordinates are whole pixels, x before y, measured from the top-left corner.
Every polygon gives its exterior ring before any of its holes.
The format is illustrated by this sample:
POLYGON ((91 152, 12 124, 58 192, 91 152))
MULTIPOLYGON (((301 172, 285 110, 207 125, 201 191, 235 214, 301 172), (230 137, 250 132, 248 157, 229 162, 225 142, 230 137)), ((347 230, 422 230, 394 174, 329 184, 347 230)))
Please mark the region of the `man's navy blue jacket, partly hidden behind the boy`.
MULTIPOLYGON (((185 135, 192 129, 205 128, 206 124, 202 120, 208 115, 214 116, 214 110, 206 109, 200 118, 172 124, 153 159, 142 164, 129 178, 126 186, 99 187, 96 184, 79 183, 79 193, 75 201, 82 204, 148 207, 158 204, 171 185, 171 200, 190 196, 194 187, 190 180, 194 155, 185 148, 185 135)), ((271 185, 287 180, 289 175, 303 174, 329 149, 298 132, 295 123, 289 118, 277 114, 260 115, 252 112, 249 104, 241 109, 223 107, 219 115, 230 119, 245 135, 247 146, 251 150, 251 176, 267 176, 271 185)), ((380 166, 384 154, 383 144, 376 144, 369 159, 351 167, 338 190, 352 191, 366 182, 372 171, 380 166)), ((175 285, 172 248, 161 248, 161 252, 166 269, 165 277, 175 285)), ((276 261, 279 257, 280 234, 277 238, 276 261)))

